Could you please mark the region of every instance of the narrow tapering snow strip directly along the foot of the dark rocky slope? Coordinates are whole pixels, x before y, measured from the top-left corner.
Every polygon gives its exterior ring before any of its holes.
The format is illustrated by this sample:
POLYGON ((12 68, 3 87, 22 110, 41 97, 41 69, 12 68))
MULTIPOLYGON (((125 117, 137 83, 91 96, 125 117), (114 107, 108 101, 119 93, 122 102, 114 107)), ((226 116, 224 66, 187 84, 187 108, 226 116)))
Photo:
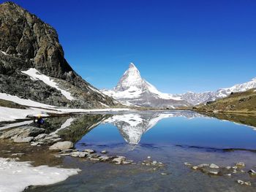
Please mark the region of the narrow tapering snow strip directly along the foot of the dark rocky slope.
POLYGON ((17 104, 21 104, 21 105, 29 106, 29 107, 56 108, 55 106, 48 105, 48 104, 42 104, 42 103, 39 103, 36 101, 32 101, 30 99, 20 99, 18 96, 12 96, 7 93, 0 93, 0 99, 12 101, 17 104))

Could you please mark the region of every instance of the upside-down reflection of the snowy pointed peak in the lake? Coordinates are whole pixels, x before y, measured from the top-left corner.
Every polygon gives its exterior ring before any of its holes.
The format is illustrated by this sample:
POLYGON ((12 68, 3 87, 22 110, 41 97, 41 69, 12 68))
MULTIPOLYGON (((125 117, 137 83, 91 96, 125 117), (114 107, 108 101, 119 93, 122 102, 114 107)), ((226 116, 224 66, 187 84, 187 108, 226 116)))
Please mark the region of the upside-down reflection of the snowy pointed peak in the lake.
POLYGON ((146 131, 154 127, 163 118, 185 117, 196 118, 203 115, 195 112, 146 112, 113 115, 105 120, 106 123, 113 123, 125 141, 132 145, 138 145, 140 138, 146 131))

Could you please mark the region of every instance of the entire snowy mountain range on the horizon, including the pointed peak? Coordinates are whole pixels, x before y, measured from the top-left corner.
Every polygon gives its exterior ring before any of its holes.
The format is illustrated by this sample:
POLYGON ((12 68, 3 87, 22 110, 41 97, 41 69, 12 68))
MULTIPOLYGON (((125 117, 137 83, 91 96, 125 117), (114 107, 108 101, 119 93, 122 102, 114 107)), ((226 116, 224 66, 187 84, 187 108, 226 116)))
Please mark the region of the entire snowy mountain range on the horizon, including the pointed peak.
POLYGON ((256 88, 256 78, 249 82, 234 85, 231 88, 221 88, 217 91, 187 92, 183 94, 161 93, 154 85, 144 80, 135 64, 131 63, 116 87, 112 90, 102 90, 102 92, 121 101, 123 104, 174 109, 181 106, 195 106, 207 101, 215 101, 229 96, 232 92, 247 91, 251 88, 256 88))

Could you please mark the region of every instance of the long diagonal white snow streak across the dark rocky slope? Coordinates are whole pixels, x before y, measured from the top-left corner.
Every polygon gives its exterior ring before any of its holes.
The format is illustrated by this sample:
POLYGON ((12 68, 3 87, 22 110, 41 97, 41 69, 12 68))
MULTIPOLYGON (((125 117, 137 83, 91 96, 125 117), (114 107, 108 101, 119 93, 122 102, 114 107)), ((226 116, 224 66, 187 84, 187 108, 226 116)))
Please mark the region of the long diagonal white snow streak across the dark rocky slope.
POLYGON ((21 72, 23 72, 24 74, 28 74, 32 80, 42 80, 42 82, 45 82, 45 84, 49 85, 50 87, 56 88, 57 90, 61 91, 62 95, 64 95, 67 99, 74 100, 74 97, 71 96, 71 93, 59 88, 56 82, 50 80, 50 77, 46 76, 45 74, 41 74, 40 72, 38 72, 37 69, 30 68, 27 71, 21 72))

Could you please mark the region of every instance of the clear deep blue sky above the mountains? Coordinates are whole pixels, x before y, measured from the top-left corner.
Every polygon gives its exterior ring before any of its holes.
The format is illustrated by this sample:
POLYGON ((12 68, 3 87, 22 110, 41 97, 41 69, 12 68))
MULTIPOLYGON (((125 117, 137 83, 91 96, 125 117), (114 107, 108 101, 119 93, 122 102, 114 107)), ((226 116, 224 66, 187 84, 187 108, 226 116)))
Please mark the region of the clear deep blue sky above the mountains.
POLYGON ((69 64, 112 88, 135 63, 166 93, 256 77, 255 0, 17 0, 56 28, 69 64))

